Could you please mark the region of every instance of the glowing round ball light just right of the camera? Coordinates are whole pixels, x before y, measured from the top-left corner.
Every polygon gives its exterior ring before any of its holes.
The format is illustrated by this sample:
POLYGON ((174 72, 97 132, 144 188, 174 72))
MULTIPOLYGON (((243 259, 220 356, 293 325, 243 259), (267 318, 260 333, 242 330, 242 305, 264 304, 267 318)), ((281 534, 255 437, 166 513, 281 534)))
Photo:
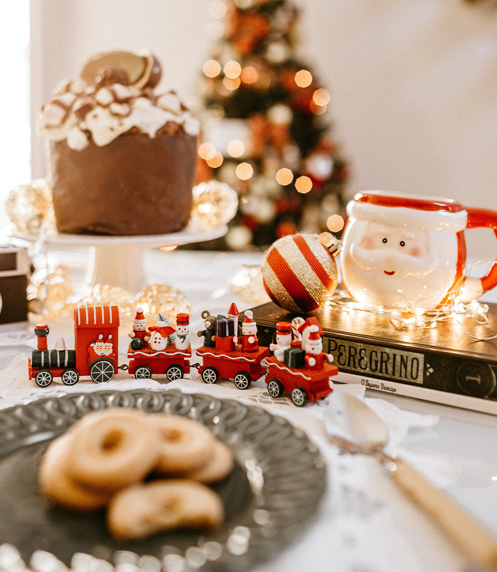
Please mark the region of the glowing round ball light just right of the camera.
POLYGON ((73 295, 73 283, 62 266, 53 272, 34 272, 27 285, 29 311, 35 314, 62 308, 73 295))

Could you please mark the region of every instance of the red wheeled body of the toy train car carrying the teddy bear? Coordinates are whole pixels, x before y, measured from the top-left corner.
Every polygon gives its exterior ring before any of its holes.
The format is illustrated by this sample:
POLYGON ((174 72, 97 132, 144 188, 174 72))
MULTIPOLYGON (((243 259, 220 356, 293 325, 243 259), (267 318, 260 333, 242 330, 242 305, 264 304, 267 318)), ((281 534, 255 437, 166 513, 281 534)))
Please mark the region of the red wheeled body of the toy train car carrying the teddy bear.
POLYGON ((205 345, 197 349, 203 364, 199 374, 205 383, 216 383, 219 377, 233 379, 239 390, 246 390, 266 373, 260 362, 269 355, 269 348, 259 347, 254 352, 242 352, 237 345, 226 352, 205 345))

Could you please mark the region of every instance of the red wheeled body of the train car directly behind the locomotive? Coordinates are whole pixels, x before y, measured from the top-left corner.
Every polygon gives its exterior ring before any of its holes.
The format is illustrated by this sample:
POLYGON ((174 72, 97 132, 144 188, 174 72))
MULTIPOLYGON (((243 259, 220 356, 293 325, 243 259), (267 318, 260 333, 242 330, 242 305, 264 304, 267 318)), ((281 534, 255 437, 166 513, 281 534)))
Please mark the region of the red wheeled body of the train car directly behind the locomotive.
POLYGON ((191 345, 188 349, 177 349, 168 345, 166 349, 157 350, 149 346, 141 349, 128 348, 131 360, 128 373, 135 379, 150 379, 153 375, 165 375, 170 382, 183 378, 190 373, 191 345))

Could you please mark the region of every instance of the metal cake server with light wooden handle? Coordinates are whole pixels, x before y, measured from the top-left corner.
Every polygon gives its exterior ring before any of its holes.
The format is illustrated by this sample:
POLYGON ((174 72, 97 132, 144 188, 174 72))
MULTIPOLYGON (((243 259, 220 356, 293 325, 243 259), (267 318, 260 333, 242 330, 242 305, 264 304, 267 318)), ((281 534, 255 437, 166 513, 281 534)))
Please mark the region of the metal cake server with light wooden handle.
POLYGON ((474 564, 497 570, 497 539, 482 524, 456 504, 440 488, 401 459, 387 455, 388 427, 366 403, 343 392, 348 430, 354 440, 335 435, 336 414, 328 406, 324 424, 328 436, 344 451, 374 455, 388 470, 394 483, 439 525, 474 564))

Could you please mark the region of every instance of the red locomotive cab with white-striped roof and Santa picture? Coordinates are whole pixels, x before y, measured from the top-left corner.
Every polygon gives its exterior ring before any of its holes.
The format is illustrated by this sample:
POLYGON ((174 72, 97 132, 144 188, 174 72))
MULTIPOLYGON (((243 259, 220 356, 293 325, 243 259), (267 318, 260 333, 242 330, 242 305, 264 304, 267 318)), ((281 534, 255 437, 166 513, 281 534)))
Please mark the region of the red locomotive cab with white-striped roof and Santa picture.
POLYGON ((74 308, 76 369, 80 376, 91 372, 93 380, 109 381, 117 374, 118 331, 117 306, 74 308), (102 375, 95 375, 97 370, 102 370, 102 375))

